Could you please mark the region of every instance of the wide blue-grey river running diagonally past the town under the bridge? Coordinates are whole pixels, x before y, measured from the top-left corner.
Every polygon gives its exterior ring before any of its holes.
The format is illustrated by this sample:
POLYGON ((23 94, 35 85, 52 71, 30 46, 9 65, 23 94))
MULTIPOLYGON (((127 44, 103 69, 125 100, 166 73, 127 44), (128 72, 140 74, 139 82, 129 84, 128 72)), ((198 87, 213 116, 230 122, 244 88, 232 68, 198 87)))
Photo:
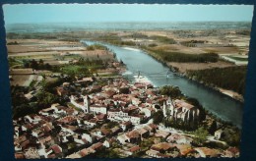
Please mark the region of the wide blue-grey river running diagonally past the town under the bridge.
MULTIPOLYGON (((96 43, 93 41, 82 42, 88 45, 96 43)), ((176 85, 183 94, 198 99, 208 111, 241 128, 243 103, 203 84, 175 75, 169 71, 168 67, 165 67, 142 50, 105 43, 100 44, 112 50, 116 53, 116 58, 124 62, 127 67, 125 76, 133 77, 140 73, 156 87, 166 84, 176 85)))

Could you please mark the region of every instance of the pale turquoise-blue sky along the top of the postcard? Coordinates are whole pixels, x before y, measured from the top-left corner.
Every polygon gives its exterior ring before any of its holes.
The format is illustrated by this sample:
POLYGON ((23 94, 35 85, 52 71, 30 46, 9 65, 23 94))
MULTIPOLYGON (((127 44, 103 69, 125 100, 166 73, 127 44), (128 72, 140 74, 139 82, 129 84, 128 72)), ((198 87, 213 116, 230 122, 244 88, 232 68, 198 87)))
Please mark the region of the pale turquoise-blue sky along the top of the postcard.
POLYGON ((6 24, 97 22, 251 22, 252 5, 4 5, 6 24))

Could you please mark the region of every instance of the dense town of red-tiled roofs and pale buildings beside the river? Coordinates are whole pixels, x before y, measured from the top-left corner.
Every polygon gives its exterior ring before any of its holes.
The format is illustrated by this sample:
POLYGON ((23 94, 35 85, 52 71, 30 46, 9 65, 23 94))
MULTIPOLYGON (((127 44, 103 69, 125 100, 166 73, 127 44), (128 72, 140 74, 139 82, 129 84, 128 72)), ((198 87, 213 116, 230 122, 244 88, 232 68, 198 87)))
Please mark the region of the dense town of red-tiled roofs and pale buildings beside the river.
POLYGON ((202 111, 185 100, 161 95, 149 82, 101 78, 105 83, 98 85, 98 80, 63 82, 55 89, 68 100, 66 106, 54 103, 37 114, 15 119, 16 158, 239 156, 237 147, 220 140, 222 129, 195 143, 199 135, 158 122, 162 117, 201 122, 202 111), (212 148, 214 143, 225 147, 212 148))

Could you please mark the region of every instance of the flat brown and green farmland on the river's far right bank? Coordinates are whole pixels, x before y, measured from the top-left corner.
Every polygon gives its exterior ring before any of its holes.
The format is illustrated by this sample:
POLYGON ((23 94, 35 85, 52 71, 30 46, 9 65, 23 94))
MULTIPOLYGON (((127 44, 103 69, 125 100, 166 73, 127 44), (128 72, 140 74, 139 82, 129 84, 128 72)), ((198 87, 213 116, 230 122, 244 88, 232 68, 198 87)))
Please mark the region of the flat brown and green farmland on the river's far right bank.
MULTIPOLYGON (((244 34, 239 29, 216 29, 215 32, 207 29, 110 31, 103 33, 100 38, 95 38, 95 40, 124 47, 130 51, 144 50, 173 72, 187 79, 195 80, 187 75, 188 71, 236 67, 234 63, 222 59, 221 55, 223 54, 235 58, 242 56, 246 59, 249 34, 244 34)), ((229 76, 228 74, 224 75, 229 76)), ((225 81, 231 84, 227 81, 233 80, 230 78, 234 78, 234 76, 222 80, 222 84, 211 81, 204 82, 203 80, 196 81, 243 102, 243 96, 239 93, 243 93, 244 89, 242 87, 237 89, 237 86, 244 86, 244 81, 241 82, 242 84, 237 80, 233 85, 224 85, 225 81), (223 89, 220 90, 220 87, 223 89)), ((218 74, 215 75, 215 79, 218 79, 218 74)))

